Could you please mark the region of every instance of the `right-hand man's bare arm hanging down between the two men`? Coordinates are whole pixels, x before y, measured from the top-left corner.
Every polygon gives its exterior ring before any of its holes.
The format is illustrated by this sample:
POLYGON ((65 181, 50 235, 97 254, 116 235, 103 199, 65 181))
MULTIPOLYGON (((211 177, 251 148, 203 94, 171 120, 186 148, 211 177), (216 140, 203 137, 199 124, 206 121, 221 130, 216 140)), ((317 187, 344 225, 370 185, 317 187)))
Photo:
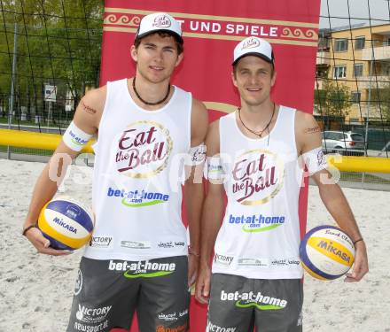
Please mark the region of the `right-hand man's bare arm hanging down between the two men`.
MULTIPOLYGON (((209 127, 207 138, 207 158, 219 155, 219 121, 209 127)), ((210 292, 210 260, 214 250, 216 235, 221 228, 223 214, 222 180, 208 179, 207 196, 203 206, 200 235, 199 274, 196 282, 195 296, 200 303, 207 303, 210 292)))

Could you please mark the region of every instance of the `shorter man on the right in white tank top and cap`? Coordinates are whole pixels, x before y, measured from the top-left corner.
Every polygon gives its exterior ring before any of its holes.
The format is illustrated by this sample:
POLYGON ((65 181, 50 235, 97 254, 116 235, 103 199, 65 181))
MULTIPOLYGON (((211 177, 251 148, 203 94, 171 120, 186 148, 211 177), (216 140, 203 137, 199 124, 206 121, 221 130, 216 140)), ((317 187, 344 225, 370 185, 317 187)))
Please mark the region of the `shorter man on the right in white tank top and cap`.
POLYGON ((368 272, 365 244, 347 200, 337 184, 323 181, 330 174, 316 120, 270 98, 274 61, 269 42, 249 37, 238 43, 232 81, 241 107, 207 133, 209 185, 196 283, 197 299, 209 305, 207 331, 302 330, 299 158, 327 210, 355 243, 355 267, 346 281, 358 282, 368 272))

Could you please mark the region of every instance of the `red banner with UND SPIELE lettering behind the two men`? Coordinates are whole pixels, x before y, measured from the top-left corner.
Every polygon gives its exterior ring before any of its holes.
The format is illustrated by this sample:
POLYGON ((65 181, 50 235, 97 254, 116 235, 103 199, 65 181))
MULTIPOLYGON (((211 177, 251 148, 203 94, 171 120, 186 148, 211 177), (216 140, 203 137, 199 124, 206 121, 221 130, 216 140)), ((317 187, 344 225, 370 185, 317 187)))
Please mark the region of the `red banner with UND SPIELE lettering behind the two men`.
MULTIPOLYGON (((184 59, 172 83, 203 101, 215 120, 239 104, 231 83, 233 49, 255 35, 272 43, 277 104, 312 112, 320 0, 105 0, 101 84, 135 73, 129 50, 140 20, 168 12, 182 23, 184 59)), ((307 188, 300 192, 300 230, 306 228, 307 188)), ((191 301, 191 331, 205 331, 206 307, 191 301)), ((136 332, 136 322, 131 331, 136 332)), ((172 330, 172 329, 169 329, 172 330)), ((114 331, 114 330, 113 330, 114 331)), ((121 330, 116 329, 115 332, 121 330)))

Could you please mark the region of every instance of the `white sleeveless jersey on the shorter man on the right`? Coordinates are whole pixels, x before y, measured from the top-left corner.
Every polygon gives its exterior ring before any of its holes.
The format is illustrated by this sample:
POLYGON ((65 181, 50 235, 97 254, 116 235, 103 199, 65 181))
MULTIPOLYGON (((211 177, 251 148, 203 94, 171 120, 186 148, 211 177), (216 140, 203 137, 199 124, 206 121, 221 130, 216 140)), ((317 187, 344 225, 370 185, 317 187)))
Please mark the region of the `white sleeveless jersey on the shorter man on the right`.
POLYGON ((236 113, 220 119, 220 149, 228 197, 214 247, 213 273, 254 279, 302 276, 298 199, 302 171, 295 110, 280 106, 269 137, 251 139, 236 113))

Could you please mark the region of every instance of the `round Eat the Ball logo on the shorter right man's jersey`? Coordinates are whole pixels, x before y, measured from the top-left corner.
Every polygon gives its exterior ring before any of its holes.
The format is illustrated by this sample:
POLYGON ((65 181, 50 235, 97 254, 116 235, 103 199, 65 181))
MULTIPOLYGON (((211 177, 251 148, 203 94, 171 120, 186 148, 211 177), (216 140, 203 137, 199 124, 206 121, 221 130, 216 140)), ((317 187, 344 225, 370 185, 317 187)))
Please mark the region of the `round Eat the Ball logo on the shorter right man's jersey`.
POLYGON ((246 151, 231 170, 233 197, 242 205, 262 205, 283 187, 283 160, 267 150, 246 151))

